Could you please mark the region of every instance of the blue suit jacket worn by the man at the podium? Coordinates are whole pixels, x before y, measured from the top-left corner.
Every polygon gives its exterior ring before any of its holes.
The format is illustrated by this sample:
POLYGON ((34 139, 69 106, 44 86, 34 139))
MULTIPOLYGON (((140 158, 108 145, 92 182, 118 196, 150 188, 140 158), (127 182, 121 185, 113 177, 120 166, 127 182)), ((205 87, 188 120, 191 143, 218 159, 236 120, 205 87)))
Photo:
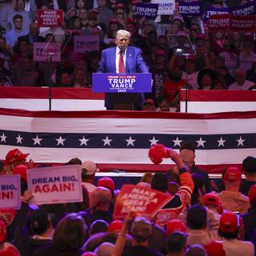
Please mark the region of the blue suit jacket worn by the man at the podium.
MULTIPOLYGON (((116 73, 115 55, 117 47, 107 48, 102 51, 102 59, 99 63, 99 73, 116 73)), ((126 50, 126 73, 150 73, 142 58, 142 51, 134 46, 128 46, 126 50)))

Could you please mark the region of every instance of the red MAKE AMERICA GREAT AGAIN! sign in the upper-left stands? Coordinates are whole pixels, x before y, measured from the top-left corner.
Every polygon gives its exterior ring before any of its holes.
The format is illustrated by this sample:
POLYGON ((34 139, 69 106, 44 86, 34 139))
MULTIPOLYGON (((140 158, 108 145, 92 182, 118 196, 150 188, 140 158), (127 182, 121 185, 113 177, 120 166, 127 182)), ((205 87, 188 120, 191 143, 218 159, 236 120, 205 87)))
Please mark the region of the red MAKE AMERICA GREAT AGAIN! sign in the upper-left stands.
POLYGON ((62 26, 63 22, 63 10, 38 10, 38 26, 62 26))

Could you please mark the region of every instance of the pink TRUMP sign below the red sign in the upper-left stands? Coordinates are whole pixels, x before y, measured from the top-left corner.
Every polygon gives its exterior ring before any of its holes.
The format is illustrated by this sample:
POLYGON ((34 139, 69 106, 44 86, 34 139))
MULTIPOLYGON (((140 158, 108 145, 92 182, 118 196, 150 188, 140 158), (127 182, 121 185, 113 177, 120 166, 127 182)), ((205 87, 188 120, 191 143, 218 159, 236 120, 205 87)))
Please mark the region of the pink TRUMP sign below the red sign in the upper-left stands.
POLYGON ((34 62, 60 62, 61 43, 60 42, 33 42, 34 62))

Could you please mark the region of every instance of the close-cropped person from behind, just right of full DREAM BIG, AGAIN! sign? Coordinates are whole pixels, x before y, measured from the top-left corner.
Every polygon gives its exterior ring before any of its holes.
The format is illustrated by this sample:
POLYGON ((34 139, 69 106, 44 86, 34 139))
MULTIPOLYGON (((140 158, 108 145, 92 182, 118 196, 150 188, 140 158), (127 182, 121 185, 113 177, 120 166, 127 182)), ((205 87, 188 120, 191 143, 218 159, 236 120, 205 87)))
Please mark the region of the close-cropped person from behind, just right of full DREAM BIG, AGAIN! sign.
POLYGON ((102 219, 107 223, 112 222, 110 205, 112 202, 111 191, 103 186, 97 186, 90 194, 90 219, 94 222, 102 219))

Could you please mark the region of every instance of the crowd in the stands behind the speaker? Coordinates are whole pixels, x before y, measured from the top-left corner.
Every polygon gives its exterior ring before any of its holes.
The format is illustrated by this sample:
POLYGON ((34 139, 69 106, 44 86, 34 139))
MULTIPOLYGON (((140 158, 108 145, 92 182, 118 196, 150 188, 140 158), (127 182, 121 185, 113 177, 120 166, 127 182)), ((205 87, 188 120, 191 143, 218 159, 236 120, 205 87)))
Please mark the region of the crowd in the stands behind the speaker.
MULTIPOLYGON (((91 87, 98 70, 101 50, 115 46, 117 30, 130 31, 130 45, 142 50, 153 74, 153 90, 143 110, 177 111, 178 91, 251 90, 256 82, 256 52, 253 33, 210 32, 204 24, 205 10, 234 7, 242 1, 202 1, 201 16, 160 15, 156 21, 134 16, 138 2, 107 0, 12 0, 0 9, 0 86, 91 87), (65 12, 61 27, 40 28, 38 9, 65 12), (170 34, 188 35, 196 55, 174 54, 170 34), (98 35, 99 51, 77 53, 74 35, 98 35), (33 61, 34 42, 61 42, 60 62, 33 61), (163 107, 161 107, 163 105, 163 107)), ((187 1, 186 1, 187 2, 187 1)), ((188 1, 191 2, 191 1, 188 1)))

